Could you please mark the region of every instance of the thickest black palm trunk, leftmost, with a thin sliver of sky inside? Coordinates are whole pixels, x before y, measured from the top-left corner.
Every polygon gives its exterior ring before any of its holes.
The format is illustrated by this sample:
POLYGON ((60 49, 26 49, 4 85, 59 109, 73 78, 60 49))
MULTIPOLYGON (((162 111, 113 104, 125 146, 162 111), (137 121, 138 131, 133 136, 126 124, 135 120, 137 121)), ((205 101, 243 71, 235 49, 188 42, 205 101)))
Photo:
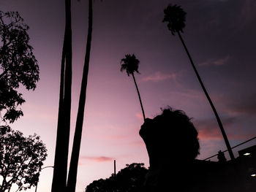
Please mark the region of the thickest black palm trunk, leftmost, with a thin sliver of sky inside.
POLYGON ((69 149, 71 85, 72 85, 72 29, 71 1, 65 1, 66 27, 61 58, 61 82, 56 152, 53 169, 52 192, 63 192, 67 183, 67 158, 69 149))

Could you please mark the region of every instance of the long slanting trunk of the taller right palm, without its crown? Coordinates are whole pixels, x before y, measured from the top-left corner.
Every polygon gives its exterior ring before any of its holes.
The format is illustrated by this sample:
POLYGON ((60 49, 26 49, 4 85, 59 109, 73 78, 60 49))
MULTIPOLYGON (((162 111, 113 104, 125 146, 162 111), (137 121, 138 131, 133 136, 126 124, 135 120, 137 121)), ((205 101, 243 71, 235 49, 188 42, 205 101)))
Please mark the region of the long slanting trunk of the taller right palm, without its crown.
POLYGON ((228 139, 227 139, 227 135, 226 135, 226 133, 225 133, 225 130, 224 130, 223 126, 222 126, 222 121, 221 121, 220 118, 219 118, 218 112, 217 112, 217 110, 215 109, 214 104, 213 104, 213 102, 211 101, 211 98, 210 98, 210 96, 208 95, 205 86, 203 85, 203 81, 201 80, 200 75, 198 74, 197 69, 195 68, 195 64, 194 64, 194 62, 192 61, 192 58, 191 58, 191 56, 190 56, 190 54, 189 54, 189 50, 187 50, 187 46, 185 45, 185 42, 184 42, 184 40, 182 39, 180 32, 177 31, 177 33, 178 33, 178 37, 181 39, 181 42, 182 42, 182 45, 184 46, 184 49, 185 49, 186 52, 187 52, 187 55, 189 56, 189 61, 190 61, 190 63, 192 64, 192 67, 193 67, 193 69, 194 69, 194 71, 195 71, 195 74, 197 75, 197 79, 199 80, 201 87, 203 88, 203 92, 206 94, 206 98, 208 99, 208 102, 209 102, 210 105, 211 105, 211 109, 214 111, 214 115, 215 115, 215 117, 217 118, 217 122, 218 122, 218 124, 219 124, 220 131, 222 131, 222 136, 223 136, 223 138, 224 138, 224 140, 225 140, 225 144, 226 144, 226 146, 227 146, 228 153, 230 154, 231 160, 233 160, 233 159, 235 159, 235 157, 234 157, 233 151, 232 151, 232 149, 231 149, 231 147, 230 147, 230 142, 228 142, 228 139))

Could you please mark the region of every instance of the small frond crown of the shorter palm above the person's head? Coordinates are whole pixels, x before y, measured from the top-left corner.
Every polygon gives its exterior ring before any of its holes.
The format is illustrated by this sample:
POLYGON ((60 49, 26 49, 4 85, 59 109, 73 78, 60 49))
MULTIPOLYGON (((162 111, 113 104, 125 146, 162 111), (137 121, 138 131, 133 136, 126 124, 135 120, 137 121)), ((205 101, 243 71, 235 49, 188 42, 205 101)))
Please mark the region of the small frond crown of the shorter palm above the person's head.
POLYGON ((125 55, 125 58, 121 59, 121 72, 126 70, 128 76, 129 74, 133 74, 134 72, 138 72, 138 74, 140 74, 140 72, 138 71, 139 64, 140 61, 138 60, 138 58, 135 57, 135 54, 127 54, 125 55))

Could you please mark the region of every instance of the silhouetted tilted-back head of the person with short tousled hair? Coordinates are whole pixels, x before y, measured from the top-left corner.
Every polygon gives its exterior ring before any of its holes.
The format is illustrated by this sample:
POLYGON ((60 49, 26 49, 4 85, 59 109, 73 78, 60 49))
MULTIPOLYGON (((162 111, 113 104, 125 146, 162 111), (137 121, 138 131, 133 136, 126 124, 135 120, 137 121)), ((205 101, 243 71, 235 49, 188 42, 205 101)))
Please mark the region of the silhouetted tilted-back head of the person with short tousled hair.
POLYGON ((197 130, 190 118, 181 110, 168 107, 153 120, 146 119, 140 136, 148 150, 157 156, 192 160, 199 154, 197 130))

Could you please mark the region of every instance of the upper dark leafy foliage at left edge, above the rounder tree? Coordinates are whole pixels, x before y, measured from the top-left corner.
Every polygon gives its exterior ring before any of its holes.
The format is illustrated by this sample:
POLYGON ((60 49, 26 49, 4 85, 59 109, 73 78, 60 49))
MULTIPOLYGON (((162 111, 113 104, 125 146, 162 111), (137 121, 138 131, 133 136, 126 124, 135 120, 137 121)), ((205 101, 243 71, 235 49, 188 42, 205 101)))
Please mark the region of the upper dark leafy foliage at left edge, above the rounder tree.
POLYGON ((13 123, 23 115, 18 109, 25 102, 17 91, 20 84, 34 91, 39 80, 39 66, 29 45, 28 30, 18 12, 0 11, 0 112, 4 112, 4 122, 13 123))

